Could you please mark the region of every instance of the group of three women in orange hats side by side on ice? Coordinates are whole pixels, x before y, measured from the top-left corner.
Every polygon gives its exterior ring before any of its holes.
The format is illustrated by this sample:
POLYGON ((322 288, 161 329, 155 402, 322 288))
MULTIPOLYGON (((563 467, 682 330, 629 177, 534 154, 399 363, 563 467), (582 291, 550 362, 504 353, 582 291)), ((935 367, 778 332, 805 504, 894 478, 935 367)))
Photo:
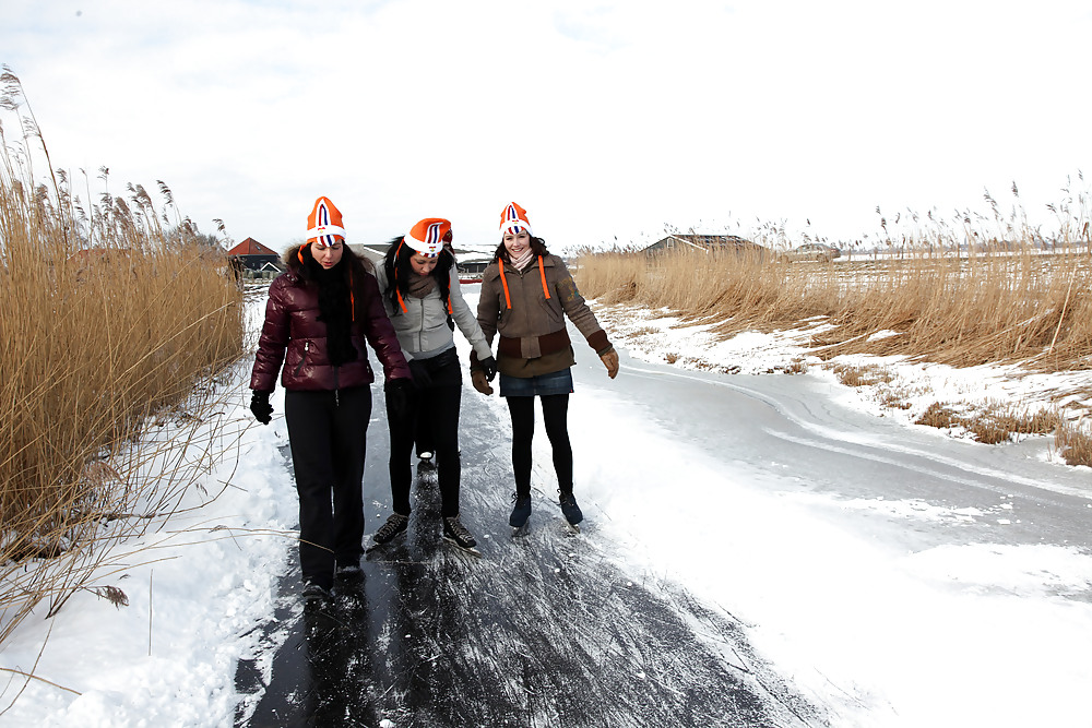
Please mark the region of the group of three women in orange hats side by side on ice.
POLYGON ((573 494, 568 403, 575 363, 566 317, 618 373, 618 355, 577 290, 565 262, 535 237, 526 211, 508 204, 501 242, 483 274, 477 315, 460 290, 454 256, 444 249, 451 223, 427 218, 391 241, 372 270, 345 243, 341 212, 319 198, 302 246, 287 251, 287 271, 270 285, 265 320, 251 372, 250 409, 271 421, 277 377, 299 496, 299 560, 306 599, 328 596, 335 575, 359 573, 364 551, 361 481, 375 374, 365 344, 383 368, 390 426, 392 514, 372 537, 390 541, 406 530, 412 511, 411 456, 418 432, 435 449, 446 539, 473 548, 459 496, 459 416, 462 375, 453 331, 470 342, 474 389, 500 396, 512 422, 515 492, 509 524, 531 515, 534 398, 542 403, 553 450, 558 503, 575 526, 583 520, 573 494), (491 342, 499 336, 497 356, 491 342))

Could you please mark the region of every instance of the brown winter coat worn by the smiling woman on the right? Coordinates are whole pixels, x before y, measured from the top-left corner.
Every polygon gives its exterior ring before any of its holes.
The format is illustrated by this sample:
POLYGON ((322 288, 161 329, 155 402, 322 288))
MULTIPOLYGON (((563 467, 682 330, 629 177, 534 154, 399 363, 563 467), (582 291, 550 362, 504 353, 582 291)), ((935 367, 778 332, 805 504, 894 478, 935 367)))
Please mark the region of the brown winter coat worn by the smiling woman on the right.
POLYGON ((610 349, 606 332, 577 290, 565 261, 557 255, 543 255, 541 271, 537 258, 522 273, 511 263, 498 259, 482 274, 478 325, 490 345, 494 334, 500 334, 497 369, 501 373, 526 378, 571 367, 575 358, 565 317, 569 317, 596 354, 610 349), (505 266, 508 298, 505 296, 500 265, 505 266), (546 291, 549 291, 549 298, 546 291))

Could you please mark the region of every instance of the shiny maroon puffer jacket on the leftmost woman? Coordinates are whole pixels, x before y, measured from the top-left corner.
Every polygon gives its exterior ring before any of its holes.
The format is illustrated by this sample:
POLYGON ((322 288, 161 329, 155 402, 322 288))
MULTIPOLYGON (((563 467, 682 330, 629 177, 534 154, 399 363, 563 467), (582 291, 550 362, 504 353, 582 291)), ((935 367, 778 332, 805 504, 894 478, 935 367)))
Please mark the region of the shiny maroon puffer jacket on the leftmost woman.
POLYGON ((387 380, 412 378, 402 346, 383 309, 379 284, 376 276, 367 272, 358 272, 353 281, 356 321, 352 339, 359 356, 341 367, 330 363, 327 324, 318 320, 319 291, 300 276, 296 250, 298 248, 285 254, 288 271, 270 284, 265 323, 258 341, 250 389, 272 392, 282 365, 281 385, 286 390, 344 390, 371 384, 376 378, 368 362, 365 339, 376 350, 387 380))

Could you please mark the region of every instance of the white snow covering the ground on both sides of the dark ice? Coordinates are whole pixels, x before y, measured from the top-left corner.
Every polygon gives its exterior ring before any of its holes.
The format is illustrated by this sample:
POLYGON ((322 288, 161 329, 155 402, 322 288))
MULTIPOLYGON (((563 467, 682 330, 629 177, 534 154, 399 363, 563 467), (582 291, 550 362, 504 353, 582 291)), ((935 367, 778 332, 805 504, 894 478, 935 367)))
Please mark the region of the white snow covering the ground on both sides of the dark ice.
MULTIPOLYGON (((476 286, 465 290, 474 298, 476 286)), ((252 323, 261 303, 252 306, 252 323)), ((821 705, 832 725, 1092 726, 1084 699, 1092 683, 1092 553, 1085 545, 1006 537, 1002 529, 1020 520, 1011 493, 969 506, 794 488, 771 454, 775 446, 760 458, 735 458, 734 444, 717 441, 719 418, 733 413, 710 414, 696 402, 693 421, 682 428, 640 402, 641 387, 656 386, 665 371, 699 387, 733 386, 804 360, 810 362, 805 374, 763 380, 799 383, 814 397, 795 417, 812 429, 871 421, 890 441, 893 422, 922 437, 923 428, 912 425, 915 408, 934 401, 1025 403, 1052 386, 1079 385, 1072 380, 1083 374, 1017 378, 1000 368, 885 360, 900 396, 913 405, 890 409, 876 390, 839 383, 794 335, 751 333, 719 343, 705 329, 678 327, 658 312, 598 311, 628 370, 614 382, 601 370, 578 378, 570 406, 577 482, 585 514, 620 547, 634 577, 677 580, 739 619, 755 647, 821 705), (673 366, 661 366, 667 361, 673 366), (879 515, 886 530, 855 528, 855 513, 879 515), (997 528, 998 538, 929 546, 964 524, 987 534, 997 528), (907 542, 921 545, 893 546, 903 536, 891 534, 902 530, 913 534, 907 542)), ((50 620, 39 610, 2 646, 0 711, 8 709, 0 726, 233 724, 236 661, 260 648, 251 628, 272 613, 277 577, 295 558, 296 498, 278 451, 286 442, 283 419, 247 427, 249 369, 240 362, 221 387, 226 404, 202 426, 246 427, 222 438, 202 488, 188 492, 186 505, 203 508, 154 524, 93 582, 122 588, 129 606, 80 592, 50 620)), ((478 395, 468 390, 464 396, 478 395)), ((280 391, 273 404, 283 411, 280 391)), ((499 399, 491 406, 506 417, 499 399)), ((384 425, 373 415, 373 427, 384 425)), ((873 434, 865 428, 854 437, 873 434)), ((940 432, 926 441, 939 461, 999 452, 940 432)), ((535 443, 546 446, 545 438, 535 443)), ((1021 477, 1045 473, 1042 487, 1056 481, 1092 509, 1092 474, 1057 463, 1048 438, 1005 447, 1031 462, 1021 477)), ((989 458, 977 457, 975 467, 988 469, 989 458)), ((546 462, 545 451, 536 451, 536 462, 546 462)))

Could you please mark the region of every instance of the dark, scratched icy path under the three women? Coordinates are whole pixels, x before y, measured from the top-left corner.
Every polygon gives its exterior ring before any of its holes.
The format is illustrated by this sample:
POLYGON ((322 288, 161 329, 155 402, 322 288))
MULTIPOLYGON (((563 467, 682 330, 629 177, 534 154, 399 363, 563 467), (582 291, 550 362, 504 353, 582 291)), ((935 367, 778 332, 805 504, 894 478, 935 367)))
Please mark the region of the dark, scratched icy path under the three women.
MULTIPOLYGON (((461 439, 462 510, 483 558, 441 542, 435 477, 418 479, 405 540, 372 552, 361 584, 305 610, 298 574, 287 576, 269 625, 269 639, 283 641, 272 679, 265 688, 268 668, 244 664, 239 689, 253 699, 240 723, 819 725, 737 622, 670 581, 636 581, 594 522, 572 534, 536 492, 529 530, 513 537, 507 422, 494 415, 485 399, 464 403, 464 422, 476 425, 461 439)), ((383 450, 379 429, 373 452, 383 450)), ((366 485, 366 500, 383 506, 369 515, 389 512, 378 460, 366 484, 381 485, 366 485)))

